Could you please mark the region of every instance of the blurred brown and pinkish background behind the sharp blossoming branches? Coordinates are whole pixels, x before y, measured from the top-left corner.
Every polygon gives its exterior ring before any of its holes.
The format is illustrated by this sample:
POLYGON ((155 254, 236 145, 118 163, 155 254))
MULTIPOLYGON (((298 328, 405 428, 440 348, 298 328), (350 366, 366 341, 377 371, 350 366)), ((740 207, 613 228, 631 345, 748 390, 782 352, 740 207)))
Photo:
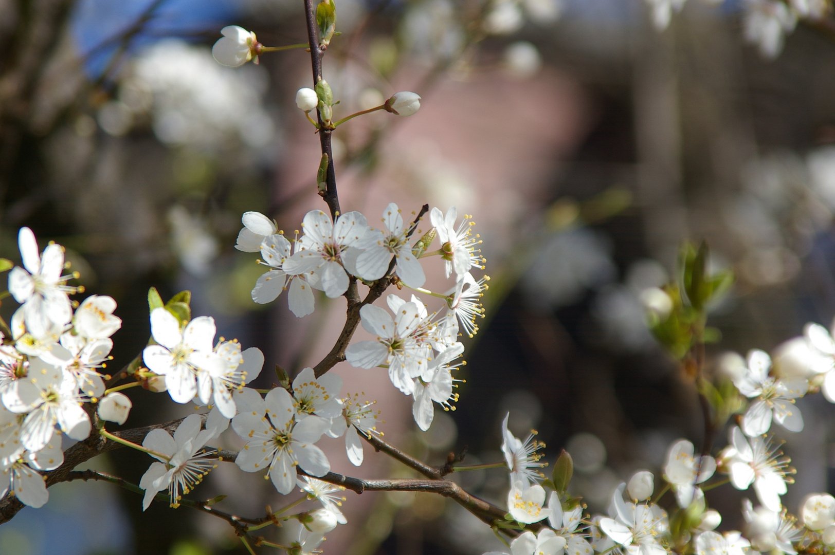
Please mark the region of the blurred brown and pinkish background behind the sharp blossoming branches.
MULTIPOLYGON (((336 1, 343 34, 324 71, 337 115, 398 90, 423 97, 412 118, 375 113, 337 131, 343 208, 373 222, 392 200, 406 214, 456 205, 474 215, 492 277, 481 331, 464 340, 457 410, 436 411, 428 432, 384 373, 335 369, 343 391, 378 401, 388 441, 433 463, 464 446, 470 464, 498 462, 510 411, 517 436, 539 431, 546 460, 569 450, 573 492, 605 510, 632 472, 660 472, 671 441, 701 441, 695 386, 655 346, 638 296, 675 278, 681 241, 707 240, 711 264, 737 275, 711 313, 723 336, 709 361, 832 321, 826 0, 336 1)), ((315 364, 341 329, 341 299, 317 297, 301 320, 283 295, 256 305, 262 270, 233 248, 246 210, 291 234, 323 207, 318 139, 294 103, 310 86, 310 58, 291 50, 230 69, 210 48, 228 24, 268 46, 305 42, 302 16, 299 0, 0 0, 0 255, 19 259, 22 225, 42 248, 66 245, 88 293, 119 303, 114 367, 148 339, 151 285, 164 298, 191 290, 194 314, 214 316, 219 335, 259 346, 256 386, 274 381, 276 364, 291 374, 315 364)), ((130 396, 131 427, 192 410, 138 388, 130 396)), ((799 406, 805 431, 780 430, 799 471, 784 497, 792 511, 835 488, 835 408, 822 396, 799 406)), ((725 441, 722 432, 716 447, 725 441)), ((231 434, 221 443, 240 447, 231 434)), ((336 472, 409 476, 370 449, 355 468, 342 440, 321 445, 336 472)), ((127 451, 89 465, 139 482, 150 460, 127 451)), ((453 479, 504 504, 504 472, 453 479)), ((230 496, 221 509, 250 516, 299 497, 233 465, 194 496, 219 494, 230 496)), ((109 484, 58 484, 50 496, 0 527, 0 552, 243 552, 224 522, 159 504, 141 512, 139 496, 109 484)), ((729 486, 708 494, 723 527, 740 526, 741 497, 729 486)), ((343 511, 349 524, 329 535, 329 555, 500 547, 441 497, 347 492, 343 511)))

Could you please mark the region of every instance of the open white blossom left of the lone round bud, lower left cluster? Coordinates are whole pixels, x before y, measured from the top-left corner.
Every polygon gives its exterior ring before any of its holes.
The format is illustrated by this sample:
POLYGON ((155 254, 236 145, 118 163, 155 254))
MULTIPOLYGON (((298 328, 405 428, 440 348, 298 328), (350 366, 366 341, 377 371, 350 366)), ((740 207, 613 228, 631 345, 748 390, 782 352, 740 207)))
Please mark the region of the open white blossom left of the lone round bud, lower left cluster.
POLYGON ((3 391, 9 411, 28 412, 20 441, 28 451, 40 451, 53 437, 55 424, 67 436, 84 440, 90 435, 90 419, 81 407, 78 384, 73 376, 40 359, 30 359, 28 379, 18 380, 3 391))

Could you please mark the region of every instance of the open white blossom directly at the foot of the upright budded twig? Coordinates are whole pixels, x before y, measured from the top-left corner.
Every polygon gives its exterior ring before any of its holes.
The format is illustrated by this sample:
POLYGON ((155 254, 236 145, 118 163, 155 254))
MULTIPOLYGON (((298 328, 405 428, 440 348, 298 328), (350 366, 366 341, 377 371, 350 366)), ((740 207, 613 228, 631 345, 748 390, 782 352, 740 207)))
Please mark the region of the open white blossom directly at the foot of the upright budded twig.
POLYGON ((348 289, 346 268, 352 270, 351 262, 356 259, 346 258, 347 251, 359 245, 366 234, 365 216, 348 212, 339 215, 333 224, 331 217, 321 210, 311 210, 305 214, 302 226, 305 235, 299 240, 301 250, 297 246, 282 269, 287 275, 315 275, 317 280, 312 285, 335 299, 348 289))

